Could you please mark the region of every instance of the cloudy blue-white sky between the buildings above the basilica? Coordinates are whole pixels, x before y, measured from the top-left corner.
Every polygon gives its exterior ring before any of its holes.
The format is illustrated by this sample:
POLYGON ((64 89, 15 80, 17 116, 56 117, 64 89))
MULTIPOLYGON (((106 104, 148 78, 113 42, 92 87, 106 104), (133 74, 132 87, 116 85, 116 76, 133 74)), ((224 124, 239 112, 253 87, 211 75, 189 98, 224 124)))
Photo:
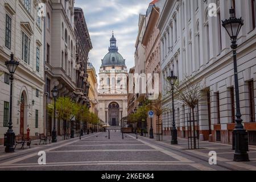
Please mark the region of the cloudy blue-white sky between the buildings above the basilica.
POLYGON ((109 39, 117 38, 119 53, 126 59, 127 68, 134 66, 135 42, 139 14, 146 14, 152 0, 76 0, 75 6, 84 10, 93 49, 89 60, 98 74, 101 59, 108 53, 109 39))

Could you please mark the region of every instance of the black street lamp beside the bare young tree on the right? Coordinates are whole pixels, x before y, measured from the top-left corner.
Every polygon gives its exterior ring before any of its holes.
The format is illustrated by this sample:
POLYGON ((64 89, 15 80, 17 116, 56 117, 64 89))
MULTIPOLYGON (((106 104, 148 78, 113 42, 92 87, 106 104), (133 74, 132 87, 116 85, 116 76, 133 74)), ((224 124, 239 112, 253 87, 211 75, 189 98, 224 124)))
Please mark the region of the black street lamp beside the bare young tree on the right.
POLYGON ((172 86, 172 129, 171 129, 171 134, 172 134, 172 140, 171 144, 177 144, 177 129, 175 126, 175 110, 174 110, 174 84, 177 80, 177 77, 174 76, 174 71, 171 71, 171 76, 167 77, 168 81, 171 83, 172 86))

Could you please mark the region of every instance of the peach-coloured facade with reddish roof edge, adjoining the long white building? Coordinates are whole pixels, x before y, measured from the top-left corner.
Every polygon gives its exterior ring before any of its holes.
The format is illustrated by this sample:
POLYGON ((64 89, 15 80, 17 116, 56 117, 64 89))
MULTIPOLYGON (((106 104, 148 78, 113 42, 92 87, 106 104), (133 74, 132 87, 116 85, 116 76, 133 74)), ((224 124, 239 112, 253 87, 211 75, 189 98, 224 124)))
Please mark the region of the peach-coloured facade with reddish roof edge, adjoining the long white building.
MULTIPOLYGON (((152 81, 152 85, 147 82, 147 98, 150 100, 156 100, 158 97, 154 98, 151 96, 148 96, 150 90, 148 90, 148 86, 151 86, 153 89, 154 95, 158 95, 161 93, 161 82, 160 82, 160 35, 159 35, 159 29, 157 27, 157 23, 159 20, 159 14, 160 10, 159 7, 155 6, 155 3, 152 2, 148 6, 147 9, 147 15, 145 17, 146 21, 146 29, 144 31, 144 35, 142 38, 142 45, 146 48, 146 61, 145 61, 145 69, 146 69, 146 75, 148 77, 148 73, 152 74, 152 80, 155 79, 155 74, 159 75, 159 82, 152 81), (159 91, 154 90, 156 87, 159 88, 159 91), (155 93, 158 92, 158 93, 155 93)), ((160 105, 159 105, 160 107, 160 105)), ((152 107, 151 107, 152 109, 152 107)), ((151 119, 147 118, 147 130, 149 133, 150 126, 151 126, 151 119)), ((152 126, 153 126, 153 132, 155 134, 162 133, 162 126, 161 126, 161 119, 156 115, 154 115, 154 118, 152 119, 152 126)))

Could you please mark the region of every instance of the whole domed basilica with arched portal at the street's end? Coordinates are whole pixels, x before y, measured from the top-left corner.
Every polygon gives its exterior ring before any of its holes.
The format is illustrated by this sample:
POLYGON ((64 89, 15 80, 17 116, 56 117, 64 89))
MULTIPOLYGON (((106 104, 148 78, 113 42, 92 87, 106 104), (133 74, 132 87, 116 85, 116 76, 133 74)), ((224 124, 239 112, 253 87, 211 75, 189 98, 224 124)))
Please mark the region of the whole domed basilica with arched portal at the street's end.
POLYGON ((101 60, 98 88, 99 117, 106 125, 121 126, 127 116, 127 68, 118 53, 117 40, 112 35, 109 52, 101 60))

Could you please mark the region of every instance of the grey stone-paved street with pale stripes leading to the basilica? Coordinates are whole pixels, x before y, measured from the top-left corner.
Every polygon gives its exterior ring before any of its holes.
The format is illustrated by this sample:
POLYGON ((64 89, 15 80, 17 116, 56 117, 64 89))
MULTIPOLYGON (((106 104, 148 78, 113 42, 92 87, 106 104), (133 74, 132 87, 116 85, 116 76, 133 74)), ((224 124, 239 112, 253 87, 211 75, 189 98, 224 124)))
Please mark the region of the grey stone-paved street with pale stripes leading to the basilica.
MULTIPOLYGON (((16 150, 13 154, 5 154, 1 150, 4 154, 0 155, 0 170, 229 171, 246 170, 246 165, 254 167, 251 164, 253 161, 238 167, 238 164, 225 158, 217 158, 218 164, 210 165, 206 151, 187 151, 182 148, 185 140, 179 139, 179 145, 171 146, 167 139, 164 138, 163 142, 140 136, 136 139, 134 134, 124 134, 122 139, 120 132, 113 131, 110 132, 110 139, 108 133, 94 133, 83 136, 81 140, 74 138, 32 146, 31 149, 16 150), (46 152, 46 165, 38 164, 39 151, 46 152)), ((207 144, 206 147, 205 150, 212 149, 207 144)))

